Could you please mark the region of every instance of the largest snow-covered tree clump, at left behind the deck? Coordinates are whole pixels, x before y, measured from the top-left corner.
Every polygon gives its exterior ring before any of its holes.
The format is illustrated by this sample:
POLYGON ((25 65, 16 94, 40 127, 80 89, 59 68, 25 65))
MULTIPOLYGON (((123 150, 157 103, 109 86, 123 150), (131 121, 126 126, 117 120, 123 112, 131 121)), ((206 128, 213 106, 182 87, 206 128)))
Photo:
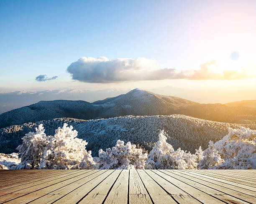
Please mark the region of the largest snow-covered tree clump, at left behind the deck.
MULTIPOLYGON (((73 127, 55 130, 54 136, 46 136, 42 124, 36 132, 29 132, 23 137, 23 144, 18 146, 21 163, 18 169, 77 169, 82 159, 90 157, 85 146, 87 142, 78 139, 73 127)), ((84 159, 83 162, 86 162, 84 159)), ((83 167, 85 168, 85 164, 83 167)), ((89 167, 90 164, 87 165, 89 167)))

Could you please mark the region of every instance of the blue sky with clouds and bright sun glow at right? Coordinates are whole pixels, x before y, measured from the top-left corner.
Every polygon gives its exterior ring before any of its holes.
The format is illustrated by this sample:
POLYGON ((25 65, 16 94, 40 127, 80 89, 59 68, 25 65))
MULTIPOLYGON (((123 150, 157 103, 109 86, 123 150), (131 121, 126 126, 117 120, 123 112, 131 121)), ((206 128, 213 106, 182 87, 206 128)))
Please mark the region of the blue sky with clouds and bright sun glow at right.
POLYGON ((256 99, 255 0, 0 0, 0 30, 0 92, 256 99))

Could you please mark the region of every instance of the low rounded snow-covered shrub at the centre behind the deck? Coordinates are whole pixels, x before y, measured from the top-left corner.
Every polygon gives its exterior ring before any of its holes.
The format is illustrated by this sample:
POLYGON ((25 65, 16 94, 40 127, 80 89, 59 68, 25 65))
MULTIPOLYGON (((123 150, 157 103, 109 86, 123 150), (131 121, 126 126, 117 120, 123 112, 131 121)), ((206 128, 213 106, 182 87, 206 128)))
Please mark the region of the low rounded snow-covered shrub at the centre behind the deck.
POLYGON ((94 157, 97 169, 144 169, 147 154, 142 149, 137 149, 135 144, 118 139, 115 147, 104 152, 99 150, 99 157, 94 157))

